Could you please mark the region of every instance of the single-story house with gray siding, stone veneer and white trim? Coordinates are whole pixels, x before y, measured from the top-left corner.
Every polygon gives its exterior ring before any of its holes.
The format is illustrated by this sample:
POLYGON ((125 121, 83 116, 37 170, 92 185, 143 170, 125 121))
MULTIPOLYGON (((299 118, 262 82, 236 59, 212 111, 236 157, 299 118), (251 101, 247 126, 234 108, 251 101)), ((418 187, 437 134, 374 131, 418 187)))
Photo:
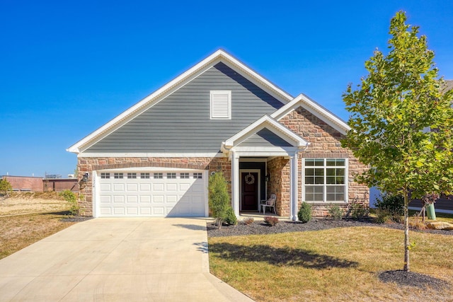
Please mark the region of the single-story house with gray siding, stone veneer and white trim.
POLYGON ((275 193, 277 214, 297 220, 302 201, 316 216, 368 202, 353 177, 366 167, 340 146, 348 129, 217 50, 67 151, 86 215, 208 216, 208 179, 222 171, 236 215, 275 193))

